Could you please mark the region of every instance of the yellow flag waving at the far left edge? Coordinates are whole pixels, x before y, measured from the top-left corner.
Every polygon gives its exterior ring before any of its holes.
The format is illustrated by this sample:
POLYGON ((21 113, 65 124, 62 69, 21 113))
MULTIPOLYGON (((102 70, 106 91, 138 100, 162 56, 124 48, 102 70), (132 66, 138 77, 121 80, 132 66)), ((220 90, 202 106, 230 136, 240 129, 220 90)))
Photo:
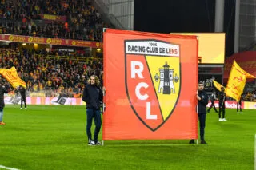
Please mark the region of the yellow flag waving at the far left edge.
POLYGON ((2 77, 4 77, 14 88, 17 88, 19 85, 22 85, 24 88, 26 88, 25 81, 22 81, 22 79, 18 77, 18 73, 15 67, 10 69, 0 69, 0 74, 2 74, 2 77))

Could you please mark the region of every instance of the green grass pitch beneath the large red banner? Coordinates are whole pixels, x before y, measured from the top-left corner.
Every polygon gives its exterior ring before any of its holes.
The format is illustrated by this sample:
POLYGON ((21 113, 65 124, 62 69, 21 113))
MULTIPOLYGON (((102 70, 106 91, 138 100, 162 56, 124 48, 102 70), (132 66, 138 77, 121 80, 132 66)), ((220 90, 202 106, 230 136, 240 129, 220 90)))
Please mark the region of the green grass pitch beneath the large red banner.
MULTIPOLYGON (((206 142, 189 140, 105 141, 88 146, 85 106, 6 105, 0 127, 0 167, 27 170, 243 169, 254 168, 256 112, 226 109, 206 117, 206 142)), ((94 129, 94 128, 93 128, 94 129)), ((99 135, 102 139, 102 132, 99 135)), ((3 168, 0 168, 3 169, 3 168)))

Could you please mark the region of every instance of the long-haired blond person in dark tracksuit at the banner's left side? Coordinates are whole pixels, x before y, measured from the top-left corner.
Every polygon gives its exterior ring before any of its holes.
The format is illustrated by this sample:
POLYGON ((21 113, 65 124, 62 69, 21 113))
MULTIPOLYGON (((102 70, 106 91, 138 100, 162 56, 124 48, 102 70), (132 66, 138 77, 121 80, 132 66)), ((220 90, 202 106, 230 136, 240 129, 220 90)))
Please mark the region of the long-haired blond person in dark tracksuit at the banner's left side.
POLYGON ((103 93, 102 93, 102 89, 99 87, 98 77, 91 76, 82 94, 82 101, 86 102, 86 114, 87 114, 86 133, 88 136, 89 145, 101 144, 98 141, 98 133, 102 125, 101 110, 100 110, 100 103, 102 102, 102 100, 103 100, 103 93), (92 140, 92 136, 90 132, 93 119, 96 126, 94 131, 94 140, 92 140))

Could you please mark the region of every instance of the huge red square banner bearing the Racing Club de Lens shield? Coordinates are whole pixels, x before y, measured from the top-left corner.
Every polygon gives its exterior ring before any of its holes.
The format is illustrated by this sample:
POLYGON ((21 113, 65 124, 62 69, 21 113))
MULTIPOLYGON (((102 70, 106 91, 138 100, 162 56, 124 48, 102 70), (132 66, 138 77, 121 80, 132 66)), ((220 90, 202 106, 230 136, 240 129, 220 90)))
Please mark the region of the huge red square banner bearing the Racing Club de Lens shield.
POLYGON ((103 140, 197 139, 195 36, 107 29, 103 140))

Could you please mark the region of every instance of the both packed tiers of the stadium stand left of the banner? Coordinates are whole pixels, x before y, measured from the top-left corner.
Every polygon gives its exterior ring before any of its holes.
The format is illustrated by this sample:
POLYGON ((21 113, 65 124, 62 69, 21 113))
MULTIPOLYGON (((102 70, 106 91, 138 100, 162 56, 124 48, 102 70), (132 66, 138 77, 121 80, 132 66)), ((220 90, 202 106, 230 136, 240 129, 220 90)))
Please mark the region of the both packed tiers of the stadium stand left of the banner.
MULTIPOLYGON (((1 0, 0 34, 102 42, 110 27, 86 0, 1 0)), ((0 45, 0 68, 18 71, 30 96, 81 97, 86 80, 97 75, 102 84, 102 57, 57 49, 26 49, 0 45)), ((3 79, 2 79, 3 80, 3 79)))

